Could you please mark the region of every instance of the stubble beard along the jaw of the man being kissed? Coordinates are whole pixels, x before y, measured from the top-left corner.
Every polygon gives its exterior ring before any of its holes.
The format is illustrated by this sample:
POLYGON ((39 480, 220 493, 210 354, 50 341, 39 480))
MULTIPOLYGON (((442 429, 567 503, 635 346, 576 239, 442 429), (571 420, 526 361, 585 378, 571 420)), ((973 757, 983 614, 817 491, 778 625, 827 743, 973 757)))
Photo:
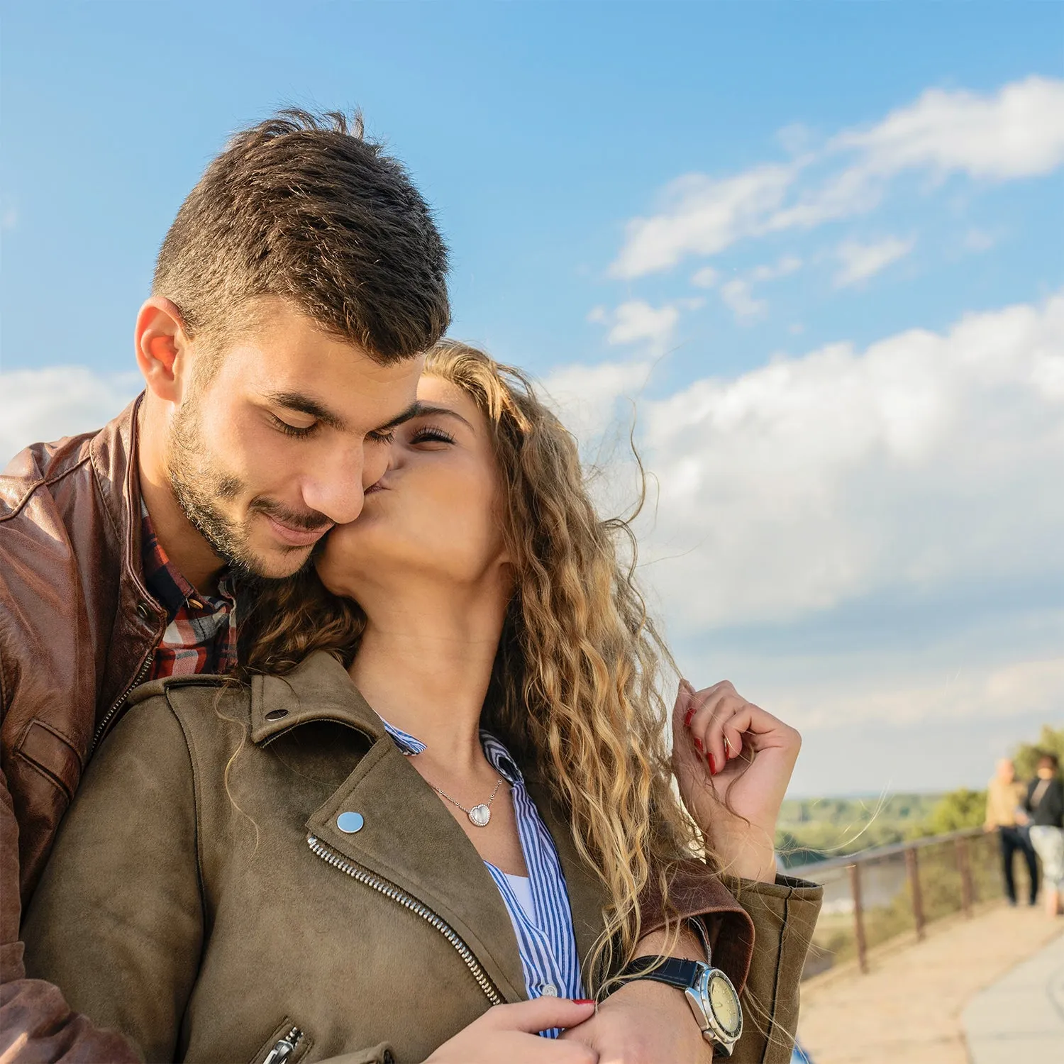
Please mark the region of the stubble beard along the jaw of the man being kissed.
MULTIPOLYGON (((239 478, 222 472, 212 462, 203 443, 199 403, 195 398, 184 402, 173 416, 167 465, 170 489, 181 512, 242 584, 287 580, 312 564, 317 549, 307 552, 295 572, 272 576, 263 571, 263 560, 251 549, 248 530, 230 520, 218 505, 219 501, 237 498, 245 485, 239 478)), ((250 515, 251 511, 249 518, 250 515)), ((316 548, 321 546, 320 541, 315 545, 316 548)))

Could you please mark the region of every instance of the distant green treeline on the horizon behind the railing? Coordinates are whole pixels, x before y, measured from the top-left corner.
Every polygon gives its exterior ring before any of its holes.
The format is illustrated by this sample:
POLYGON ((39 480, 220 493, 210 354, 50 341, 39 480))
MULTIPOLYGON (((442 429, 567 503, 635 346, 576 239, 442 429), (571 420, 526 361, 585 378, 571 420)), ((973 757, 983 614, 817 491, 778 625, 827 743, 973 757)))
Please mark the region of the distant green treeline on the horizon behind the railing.
MULTIPOLYGON (((1055 752, 1064 762, 1064 728, 1046 725, 1037 743, 1017 747, 1017 777, 1031 779, 1038 753, 1046 750, 1055 752)), ((909 838, 978 828, 985 815, 986 792, 966 787, 947 794, 895 794, 883 798, 791 798, 780 811, 776 848, 783 862, 794 867, 909 838)))

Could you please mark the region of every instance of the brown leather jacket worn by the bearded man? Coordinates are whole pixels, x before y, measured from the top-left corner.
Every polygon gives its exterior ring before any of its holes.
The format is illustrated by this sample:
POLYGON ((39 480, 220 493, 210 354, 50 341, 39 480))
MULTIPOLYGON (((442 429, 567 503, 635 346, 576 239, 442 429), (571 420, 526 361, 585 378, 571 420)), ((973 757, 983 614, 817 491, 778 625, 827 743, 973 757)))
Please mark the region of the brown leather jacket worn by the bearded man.
MULTIPOLYGON (((22 907, 94 749, 147 675, 165 614, 145 587, 136 459, 139 399, 97 433, 22 451, 0 475, 0 1059, 138 1059, 118 1035, 27 979, 22 907)), ((708 911, 705 883, 677 892, 708 911)), ((652 898, 644 900, 647 926, 652 898)), ((741 896, 766 970, 804 957, 819 892, 789 884, 741 896), (799 918, 800 917, 800 918, 799 918)), ((797 970, 800 970, 800 963, 797 970)), ((754 965, 754 968, 758 968, 754 965)), ((793 964, 788 963, 793 969, 793 964)), ((770 1027, 791 1029, 797 975, 769 980, 770 1027)))

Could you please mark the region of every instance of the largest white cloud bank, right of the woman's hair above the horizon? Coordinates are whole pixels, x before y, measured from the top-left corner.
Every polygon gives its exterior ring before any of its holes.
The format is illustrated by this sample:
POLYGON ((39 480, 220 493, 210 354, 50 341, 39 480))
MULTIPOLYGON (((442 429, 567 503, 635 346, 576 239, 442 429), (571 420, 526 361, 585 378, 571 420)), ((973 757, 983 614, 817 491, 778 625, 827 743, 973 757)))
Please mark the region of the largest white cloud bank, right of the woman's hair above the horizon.
MULTIPOLYGON (((576 378, 600 414, 639 383, 615 369, 576 378)), ((805 730, 796 791, 970 786, 1059 716, 1064 292, 699 380, 638 426, 654 612, 699 686, 805 730)))

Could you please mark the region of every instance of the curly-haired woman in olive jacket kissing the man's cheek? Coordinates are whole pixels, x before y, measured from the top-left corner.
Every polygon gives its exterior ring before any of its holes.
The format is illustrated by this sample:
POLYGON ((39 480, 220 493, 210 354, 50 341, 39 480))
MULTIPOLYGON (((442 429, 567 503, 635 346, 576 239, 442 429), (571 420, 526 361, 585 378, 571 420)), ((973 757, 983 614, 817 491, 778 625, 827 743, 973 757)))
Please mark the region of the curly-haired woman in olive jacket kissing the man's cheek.
POLYGON ((596 518, 570 437, 462 345, 419 398, 320 579, 242 625, 248 682, 138 693, 35 895, 35 974, 147 1060, 595 1061, 644 1008, 675 1017, 660 1059, 709 1061, 671 987, 579 1000, 636 957, 704 961, 704 930, 750 970, 735 1059, 786 1059, 819 897, 775 882, 797 734, 730 685, 681 688, 699 837, 627 528, 596 518))

